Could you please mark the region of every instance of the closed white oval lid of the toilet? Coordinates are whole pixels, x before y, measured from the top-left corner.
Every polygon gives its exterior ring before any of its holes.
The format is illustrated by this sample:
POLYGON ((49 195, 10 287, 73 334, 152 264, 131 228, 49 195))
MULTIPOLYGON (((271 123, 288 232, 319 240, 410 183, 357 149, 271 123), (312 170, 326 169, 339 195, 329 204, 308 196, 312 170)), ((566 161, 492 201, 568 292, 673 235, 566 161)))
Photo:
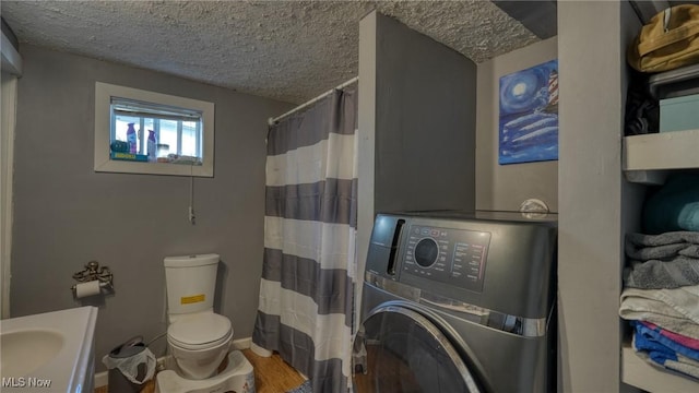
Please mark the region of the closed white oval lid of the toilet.
POLYGON ((232 335, 230 320, 215 313, 186 318, 170 324, 167 335, 187 346, 217 344, 232 335))

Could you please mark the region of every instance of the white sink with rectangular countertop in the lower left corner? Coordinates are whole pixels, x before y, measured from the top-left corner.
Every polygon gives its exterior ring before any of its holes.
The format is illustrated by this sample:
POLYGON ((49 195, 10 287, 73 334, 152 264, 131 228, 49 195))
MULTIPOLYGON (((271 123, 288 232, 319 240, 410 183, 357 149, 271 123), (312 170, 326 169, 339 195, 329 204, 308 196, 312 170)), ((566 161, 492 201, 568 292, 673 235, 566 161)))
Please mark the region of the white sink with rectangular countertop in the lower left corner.
POLYGON ((95 307, 0 321, 3 386, 91 392, 96 321, 95 307))

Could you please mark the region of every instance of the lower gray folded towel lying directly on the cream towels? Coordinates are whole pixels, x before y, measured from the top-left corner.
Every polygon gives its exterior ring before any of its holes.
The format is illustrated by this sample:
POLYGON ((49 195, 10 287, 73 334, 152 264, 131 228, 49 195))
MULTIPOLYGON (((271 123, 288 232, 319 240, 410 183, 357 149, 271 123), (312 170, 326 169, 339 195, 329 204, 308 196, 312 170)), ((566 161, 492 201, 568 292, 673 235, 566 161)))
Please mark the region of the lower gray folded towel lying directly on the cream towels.
POLYGON ((631 261, 624 284, 629 288, 673 289, 699 284, 699 259, 677 257, 670 261, 631 261))

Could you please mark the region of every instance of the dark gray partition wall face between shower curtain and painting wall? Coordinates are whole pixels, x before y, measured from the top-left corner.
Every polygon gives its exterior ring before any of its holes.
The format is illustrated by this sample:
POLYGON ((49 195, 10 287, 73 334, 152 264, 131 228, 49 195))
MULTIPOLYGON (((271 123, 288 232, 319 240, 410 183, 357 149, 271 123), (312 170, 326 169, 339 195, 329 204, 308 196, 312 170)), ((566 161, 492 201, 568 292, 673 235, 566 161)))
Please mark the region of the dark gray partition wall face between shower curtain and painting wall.
POLYGON ((377 22, 376 211, 473 211, 475 63, 391 17, 377 22))

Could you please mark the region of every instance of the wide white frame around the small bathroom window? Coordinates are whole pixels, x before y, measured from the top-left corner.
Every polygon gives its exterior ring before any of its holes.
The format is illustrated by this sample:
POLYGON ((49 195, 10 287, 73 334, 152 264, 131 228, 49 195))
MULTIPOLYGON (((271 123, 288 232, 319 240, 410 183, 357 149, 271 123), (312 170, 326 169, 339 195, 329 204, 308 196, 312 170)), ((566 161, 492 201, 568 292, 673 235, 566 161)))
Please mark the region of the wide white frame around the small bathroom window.
POLYGON ((173 176, 214 176, 214 104, 199 99, 154 93, 95 82, 95 171, 173 176), (141 163, 111 159, 111 97, 194 109, 202 112, 202 165, 141 163))

